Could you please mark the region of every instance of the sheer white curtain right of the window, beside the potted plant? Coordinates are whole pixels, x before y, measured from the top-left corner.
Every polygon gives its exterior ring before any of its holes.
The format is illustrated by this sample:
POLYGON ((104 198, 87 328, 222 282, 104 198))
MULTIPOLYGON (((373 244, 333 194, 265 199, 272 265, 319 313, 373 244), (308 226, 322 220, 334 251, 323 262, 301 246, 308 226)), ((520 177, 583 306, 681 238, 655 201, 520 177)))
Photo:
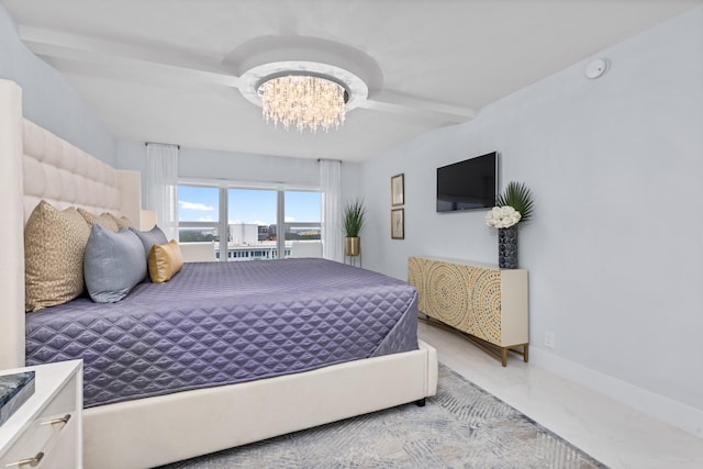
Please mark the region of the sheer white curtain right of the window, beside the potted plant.
POLYGON ((342 161, 320 160, 322 188, 322 257, 343 260, 342 236, 342 161))

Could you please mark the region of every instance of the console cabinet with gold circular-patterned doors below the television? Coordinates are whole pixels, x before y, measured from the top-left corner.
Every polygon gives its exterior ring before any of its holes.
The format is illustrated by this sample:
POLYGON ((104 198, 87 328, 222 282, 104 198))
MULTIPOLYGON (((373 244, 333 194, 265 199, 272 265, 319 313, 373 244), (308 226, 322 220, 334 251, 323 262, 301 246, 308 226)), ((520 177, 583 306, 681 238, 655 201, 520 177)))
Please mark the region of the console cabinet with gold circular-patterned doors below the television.
POLYGON ((527 361, 527 270, 410 257, 408 279, 417 289, 421 313, 478 339, 503 366, 509 350, 527 361))

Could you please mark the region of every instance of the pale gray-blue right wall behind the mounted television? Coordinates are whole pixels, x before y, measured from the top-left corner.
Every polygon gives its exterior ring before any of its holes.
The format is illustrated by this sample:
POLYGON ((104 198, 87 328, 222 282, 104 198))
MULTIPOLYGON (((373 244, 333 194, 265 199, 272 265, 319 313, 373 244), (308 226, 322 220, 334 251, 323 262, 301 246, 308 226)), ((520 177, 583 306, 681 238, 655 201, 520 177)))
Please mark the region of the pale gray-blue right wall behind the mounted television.
POLYGON ((369 201, 405 174, 406 220, 391 241, 390 202, 370 208, 364 265, 405 279, 411 255, 496 263, 484 212, 435 213, 435 170, 500 152, 502 186, 536 198, 520 232, 533 362, 703 436, 703 8, 598 56, 599 79, 584 60, 367 161, 369 201))

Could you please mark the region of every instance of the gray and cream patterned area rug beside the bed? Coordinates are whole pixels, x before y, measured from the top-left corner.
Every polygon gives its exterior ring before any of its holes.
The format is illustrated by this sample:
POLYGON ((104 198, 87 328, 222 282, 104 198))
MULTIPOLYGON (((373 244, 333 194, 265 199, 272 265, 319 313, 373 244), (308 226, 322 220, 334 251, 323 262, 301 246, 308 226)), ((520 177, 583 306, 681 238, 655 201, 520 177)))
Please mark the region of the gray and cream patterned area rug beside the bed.
POLYGON ((437 395, 164 469, 605 468, 500 399, 439 366, 437 395))

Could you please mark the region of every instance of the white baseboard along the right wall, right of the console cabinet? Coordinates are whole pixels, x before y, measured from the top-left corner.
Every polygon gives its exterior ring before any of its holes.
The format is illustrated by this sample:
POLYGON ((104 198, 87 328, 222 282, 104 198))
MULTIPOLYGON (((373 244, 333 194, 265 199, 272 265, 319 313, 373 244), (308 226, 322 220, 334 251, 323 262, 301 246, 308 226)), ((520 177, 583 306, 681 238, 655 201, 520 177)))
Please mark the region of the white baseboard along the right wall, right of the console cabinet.
POLYGON ((529 364, 703 438, 703 411, 531 347, 529 364))

